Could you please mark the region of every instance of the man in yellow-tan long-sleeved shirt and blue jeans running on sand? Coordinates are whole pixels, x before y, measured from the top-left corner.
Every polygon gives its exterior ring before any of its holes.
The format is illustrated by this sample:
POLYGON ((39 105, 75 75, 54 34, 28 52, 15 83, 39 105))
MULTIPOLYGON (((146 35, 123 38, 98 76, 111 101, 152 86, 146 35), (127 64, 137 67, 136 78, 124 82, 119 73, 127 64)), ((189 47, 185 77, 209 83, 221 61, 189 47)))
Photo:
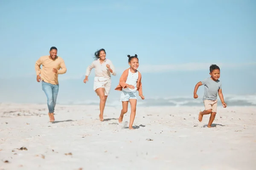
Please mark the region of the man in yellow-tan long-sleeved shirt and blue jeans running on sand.
POLYGON ((58 74, 64 74, 67 71, 64 60, 57 56, 57 48, 51 47, 50 55, 42 56, 35 62, 36 80, 42 81, 42 89, 47 96, 47 105, 49 109, 50 122, 54 122, 54 108, 58 96, 58 74), (40 66, 43 66, 42 69, 40 66), (61 68, 61 70, 60 70, 61 68), (41 74, 41 76, 40 76, 41 74))

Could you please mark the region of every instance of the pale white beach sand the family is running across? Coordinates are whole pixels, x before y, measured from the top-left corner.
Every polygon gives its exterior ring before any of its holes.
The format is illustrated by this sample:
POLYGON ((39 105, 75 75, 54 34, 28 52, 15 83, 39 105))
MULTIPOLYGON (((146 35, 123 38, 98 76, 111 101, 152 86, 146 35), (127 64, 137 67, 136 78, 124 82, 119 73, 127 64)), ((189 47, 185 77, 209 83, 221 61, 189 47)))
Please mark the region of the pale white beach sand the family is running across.
POLYGON ((256 108, 218 108, 213 128, 202 109, 137 107, 128 130, 109 124, 120 108, 57 105, 52 124, 46 105, 2 103, 0 170, 255 170, 256 108))

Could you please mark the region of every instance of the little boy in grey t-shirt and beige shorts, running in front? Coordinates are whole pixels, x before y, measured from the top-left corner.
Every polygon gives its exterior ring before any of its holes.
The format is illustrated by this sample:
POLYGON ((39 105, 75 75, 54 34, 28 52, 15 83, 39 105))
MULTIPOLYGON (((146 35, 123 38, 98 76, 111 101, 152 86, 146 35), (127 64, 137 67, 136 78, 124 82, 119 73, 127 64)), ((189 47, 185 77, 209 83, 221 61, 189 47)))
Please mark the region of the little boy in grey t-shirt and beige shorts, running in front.
POLYGON ((204 107, 205 110, 199 113, 198 120, 199 122, 202 122, 203 116, 205 114, 211 114, 209 123, 207 127, 212 127, 212 122, 215 119, 215 115, 217 112, 217 92, 219 95, 219 98, 221 99, 221 103, 224 108, 227 107, 226 103, 224 102, 222 89, 221 89, 221 82, 218 80, 220 78, 220 68, 212 64, 210 66, 210 76, 209 78, 204 79, 201 82, 198 82, 195 85, 194 89, 194 98, 197 99, 198 95, 196 94, 199 86, 204 85, 204 107))

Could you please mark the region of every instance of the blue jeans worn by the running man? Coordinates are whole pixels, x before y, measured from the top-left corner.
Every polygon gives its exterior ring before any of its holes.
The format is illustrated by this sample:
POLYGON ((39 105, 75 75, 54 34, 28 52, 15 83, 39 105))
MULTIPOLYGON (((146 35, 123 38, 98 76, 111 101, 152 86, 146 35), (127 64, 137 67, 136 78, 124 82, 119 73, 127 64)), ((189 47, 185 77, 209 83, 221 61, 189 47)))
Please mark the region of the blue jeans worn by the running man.
POLYGON ((52 85, 50 83, 42 81, 42 89, 47 96, 49 113, 54 113, 54 108, 58 96, 58 87, 59 85, 52 85))

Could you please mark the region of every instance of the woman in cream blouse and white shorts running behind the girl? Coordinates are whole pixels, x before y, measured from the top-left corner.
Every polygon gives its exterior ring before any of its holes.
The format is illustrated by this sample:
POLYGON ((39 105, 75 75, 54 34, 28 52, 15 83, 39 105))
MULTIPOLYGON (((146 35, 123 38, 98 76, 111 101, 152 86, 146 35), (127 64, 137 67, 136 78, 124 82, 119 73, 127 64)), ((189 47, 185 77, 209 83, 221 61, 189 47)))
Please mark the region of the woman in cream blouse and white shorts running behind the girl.
POLYGON ((109 59, 106 59, 106 52, 102 48, 95 52, 95 60, 86 69, 84 83, 88 82, 88 76, 93 68, 95 68, 95 77, 93 90, 99 96, 99 120, 103 121, 103 111, 105 103, 111 88, 111 74, 116 75, 115 68, 109 59))

